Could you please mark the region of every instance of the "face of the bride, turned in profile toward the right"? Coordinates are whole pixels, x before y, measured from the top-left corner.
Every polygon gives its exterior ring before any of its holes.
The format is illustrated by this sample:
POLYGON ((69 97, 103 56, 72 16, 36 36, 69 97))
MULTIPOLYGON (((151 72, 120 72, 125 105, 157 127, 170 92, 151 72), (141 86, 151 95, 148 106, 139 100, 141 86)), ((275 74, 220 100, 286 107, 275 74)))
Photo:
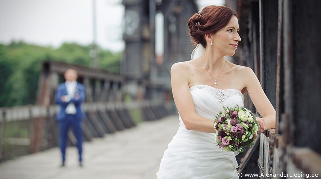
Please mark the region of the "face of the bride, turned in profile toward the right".
POLYGON ((213 35, 213 48, 223 56, 233 56, 237 49, 237 43, 241 41, 238 34, 239 23, 233 15, 229 23, 213 35))

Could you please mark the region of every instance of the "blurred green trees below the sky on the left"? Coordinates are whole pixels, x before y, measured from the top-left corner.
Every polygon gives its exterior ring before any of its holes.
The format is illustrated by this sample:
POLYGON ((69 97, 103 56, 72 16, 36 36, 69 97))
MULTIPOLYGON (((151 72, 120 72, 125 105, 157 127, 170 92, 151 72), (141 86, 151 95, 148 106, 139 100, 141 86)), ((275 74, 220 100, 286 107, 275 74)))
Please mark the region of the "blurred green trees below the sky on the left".
MULTIPOLYGON (((92 45, 75 43, 64 43, 57 49, 24 42, 0 44, 0 107, 34 104, 41 62, 63 61, 91 67, 91 48, 92 45)), ((100 49, 99 67, 119 73, 121 54, 100 49)))

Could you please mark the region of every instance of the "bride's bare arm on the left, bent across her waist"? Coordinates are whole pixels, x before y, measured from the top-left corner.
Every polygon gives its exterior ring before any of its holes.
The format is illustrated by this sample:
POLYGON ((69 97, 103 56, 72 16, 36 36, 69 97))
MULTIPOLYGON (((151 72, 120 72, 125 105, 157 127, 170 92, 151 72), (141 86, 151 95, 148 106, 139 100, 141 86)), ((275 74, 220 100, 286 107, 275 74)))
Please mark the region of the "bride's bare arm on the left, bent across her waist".
POLYGON ((200 132, 215 132, 213 120, 196 113, 192 95, 189 91, 188 65, 175 63, 170 70, 171 88, 177 110, 186 129, 200 132))

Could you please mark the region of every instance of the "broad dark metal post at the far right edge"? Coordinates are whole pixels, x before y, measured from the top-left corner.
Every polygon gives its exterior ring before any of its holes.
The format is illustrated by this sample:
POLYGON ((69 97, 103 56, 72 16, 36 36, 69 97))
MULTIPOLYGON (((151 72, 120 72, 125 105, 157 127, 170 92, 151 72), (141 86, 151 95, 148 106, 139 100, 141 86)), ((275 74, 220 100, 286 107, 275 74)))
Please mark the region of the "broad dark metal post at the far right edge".
MULTIPOLYGON (((321 1, 291 0, 291 41, 286 59, 292 67, 292 142, 321 154, 321 1)), ((291 113, 290 113, 291 112, 291 113)))

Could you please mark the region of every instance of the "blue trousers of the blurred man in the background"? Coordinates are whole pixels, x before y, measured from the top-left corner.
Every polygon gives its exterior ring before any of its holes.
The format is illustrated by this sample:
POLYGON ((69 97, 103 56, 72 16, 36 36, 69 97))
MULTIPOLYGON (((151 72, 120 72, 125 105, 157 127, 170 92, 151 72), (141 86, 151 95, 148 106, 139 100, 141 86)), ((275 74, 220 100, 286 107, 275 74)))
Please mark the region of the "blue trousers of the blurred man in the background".
POLYGON ((77 139, 77 148, 79 154, 79 162, 82 162, 82 130, 81 130, 81 121, 76 115, 68 114, 65 120, 59 122, 59 147, 62 154, 62 162, 66 160, 66 147, 68 139, 68 130, 70 127, 73 129, 73 133, 77 139))

